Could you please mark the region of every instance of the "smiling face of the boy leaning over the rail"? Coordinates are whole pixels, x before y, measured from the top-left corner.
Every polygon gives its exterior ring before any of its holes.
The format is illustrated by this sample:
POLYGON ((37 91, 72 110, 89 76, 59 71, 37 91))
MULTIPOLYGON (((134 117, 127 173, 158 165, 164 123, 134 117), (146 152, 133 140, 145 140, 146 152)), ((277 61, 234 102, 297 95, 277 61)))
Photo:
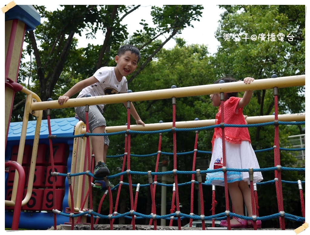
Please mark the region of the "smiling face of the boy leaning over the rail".
POLYGON ((138 57, 131 53, 131 51, 125 51, 121 56, 115 56, 116 68, 122 76, 127 76, 135 71, 138 64, 138 57))

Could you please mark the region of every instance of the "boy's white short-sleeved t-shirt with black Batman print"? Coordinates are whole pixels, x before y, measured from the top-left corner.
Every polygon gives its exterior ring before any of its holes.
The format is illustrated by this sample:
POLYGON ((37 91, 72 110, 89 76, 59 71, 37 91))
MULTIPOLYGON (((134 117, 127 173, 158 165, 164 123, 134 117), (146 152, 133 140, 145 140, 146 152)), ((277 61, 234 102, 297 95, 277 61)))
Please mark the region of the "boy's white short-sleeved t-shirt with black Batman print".
MULTIPOLYGON (((101 67, 93 75, 98 82, 82 89, 77 98, 83 97, 87 94, 91 96, 102 96, 125 93, 128 90, 127 79, 122 77, 122 81, 117 81, 114 67, 101 67)), ((103 112, 104 104, 99 104, 98 107, 103 112)))

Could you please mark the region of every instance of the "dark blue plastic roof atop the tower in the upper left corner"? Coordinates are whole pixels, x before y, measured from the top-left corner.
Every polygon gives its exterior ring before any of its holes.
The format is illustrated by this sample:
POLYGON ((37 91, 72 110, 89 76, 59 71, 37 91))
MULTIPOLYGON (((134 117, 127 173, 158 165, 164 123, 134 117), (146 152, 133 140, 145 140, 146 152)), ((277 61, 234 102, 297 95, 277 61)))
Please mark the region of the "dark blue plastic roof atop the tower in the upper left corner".
POLYGON ((16 5, 5 13, 5 21, 15 19, 24 22, 27 31, 41 24, 41 16, 32 5, 16 5))

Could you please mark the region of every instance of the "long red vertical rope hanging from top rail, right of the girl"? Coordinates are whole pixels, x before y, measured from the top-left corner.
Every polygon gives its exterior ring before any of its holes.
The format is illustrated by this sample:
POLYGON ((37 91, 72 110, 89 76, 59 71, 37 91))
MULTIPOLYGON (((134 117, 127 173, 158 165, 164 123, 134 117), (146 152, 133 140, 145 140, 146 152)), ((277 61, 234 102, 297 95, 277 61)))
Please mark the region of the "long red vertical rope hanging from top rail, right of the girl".
MULTIPOLYGON (((278 121, 278 96, 274 96, 274 113, 275 113, 275 121, 278 121)), ((279 143, 279 126, 275 125, 275 134, 274 134, 274 165, 280 165, 280 143, 279 143)), ((276 191, 277 191, 277 202, 278 202, 278 209, 280 211, 283 210, 283 196, 282 196, 282 182, 281 182, 281 171, 275 170, 275 178, 278 179, 276 181, 276 191)), ((280 216, 280 228, 285 230, 285 223, 284 218, 280 216)))

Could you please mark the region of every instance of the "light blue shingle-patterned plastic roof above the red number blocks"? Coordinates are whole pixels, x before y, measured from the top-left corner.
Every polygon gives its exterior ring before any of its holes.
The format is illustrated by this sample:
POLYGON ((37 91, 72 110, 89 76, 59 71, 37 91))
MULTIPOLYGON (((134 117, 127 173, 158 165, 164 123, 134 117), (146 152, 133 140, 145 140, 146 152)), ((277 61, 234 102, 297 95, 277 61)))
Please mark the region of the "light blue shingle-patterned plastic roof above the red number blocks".
MULTIPOLYGON (((72 118, 58 118, 51 119, 51 134, 52 135, 73 135, 74 126, 78 123, 78 119, 72 118)), ((7 140, 20 140, 22 122, 12 122, 10 123, 9 133, 7 140)), ((36 129, 36 121, 29 121, 27 126, 26 139, 33 139, 36 129)), ((42 120, 40 129, 40 139, 48 137, 48 125, 47 120, 42 120)))

